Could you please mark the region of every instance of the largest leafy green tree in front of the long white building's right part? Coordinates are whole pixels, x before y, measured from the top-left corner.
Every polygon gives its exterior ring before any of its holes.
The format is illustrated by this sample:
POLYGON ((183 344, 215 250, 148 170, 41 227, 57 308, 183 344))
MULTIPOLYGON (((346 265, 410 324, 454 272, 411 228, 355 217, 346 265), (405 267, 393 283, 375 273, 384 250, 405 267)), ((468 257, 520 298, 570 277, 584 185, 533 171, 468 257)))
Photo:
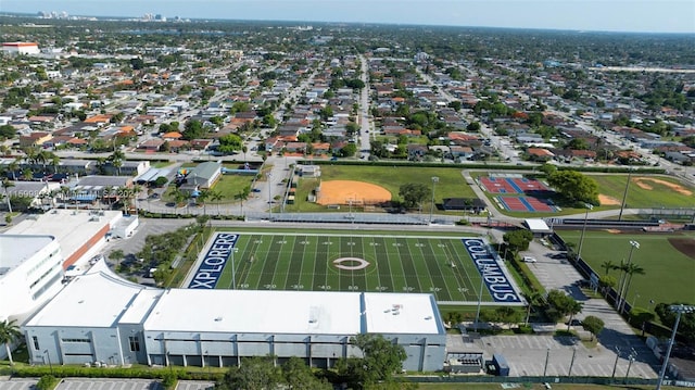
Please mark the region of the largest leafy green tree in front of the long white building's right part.
POLYGON ((379 381, 391 381, 393 374, 400 372, 407 358, 403 345, 395 344, 381 335, 361 334, 350 338, 357 347, 363 358, 341 358, 337 364, 341 375, 348 374, 357 383, 372 385, 379 381))

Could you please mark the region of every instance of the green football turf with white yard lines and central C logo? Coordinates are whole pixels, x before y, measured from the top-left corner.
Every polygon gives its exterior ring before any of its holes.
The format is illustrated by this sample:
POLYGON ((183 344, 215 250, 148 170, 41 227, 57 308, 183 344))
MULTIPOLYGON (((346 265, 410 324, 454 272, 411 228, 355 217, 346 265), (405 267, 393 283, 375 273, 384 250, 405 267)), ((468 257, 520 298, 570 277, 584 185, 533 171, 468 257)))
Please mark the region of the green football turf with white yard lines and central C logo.
MULTIPOLYGON (((455 237, 242 232, 235 248, 217 289, 232 288, 232 263, 236 287, 252 290, 431 292, 440 303, 462 304, 478 301, 482 281, 455 237)), ((485 282, 482 302, 501 301, 493 285, 485 282)))

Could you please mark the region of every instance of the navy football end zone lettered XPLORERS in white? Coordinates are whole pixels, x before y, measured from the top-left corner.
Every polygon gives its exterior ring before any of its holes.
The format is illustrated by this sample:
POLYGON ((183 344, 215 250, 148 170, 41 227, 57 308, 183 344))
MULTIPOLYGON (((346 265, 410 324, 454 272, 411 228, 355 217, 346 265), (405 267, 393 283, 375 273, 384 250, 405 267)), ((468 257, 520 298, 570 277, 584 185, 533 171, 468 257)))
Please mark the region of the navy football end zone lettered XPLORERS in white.
POLYGON ((213 232, 181 286, 188 289, 215 289, 238 239, 238 234, 213 232))

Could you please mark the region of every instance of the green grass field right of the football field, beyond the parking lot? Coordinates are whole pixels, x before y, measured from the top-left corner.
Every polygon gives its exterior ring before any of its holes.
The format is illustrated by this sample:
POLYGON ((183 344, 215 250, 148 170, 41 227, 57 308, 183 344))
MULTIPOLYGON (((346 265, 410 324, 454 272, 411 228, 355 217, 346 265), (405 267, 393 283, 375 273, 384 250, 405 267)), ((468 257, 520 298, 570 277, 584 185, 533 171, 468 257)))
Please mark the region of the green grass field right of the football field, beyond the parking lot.
MULTIPOLYGON (((568 242, 578 243, 581 231, 560 230, 559 235, 568 242)), ((695 280, 695 254, 683 253, 673 244, 687 248, 687 242, 695 243, 695 232, 681 234, 645 234, 622 232, 614 234, 605 230, 587 230, 584 236, 582 257, 599 275, 605 271, 601 264, 611 261, 619 265, 628 260, 630 240, 640 243, 632 254, 632 263, 644 268, 644 275, 634 275, 628 292, 628 302, 645 310, 654 309, 654 302, 688 302, 695 303, 693 280, 695 280), (673 239, 684 239, 677 240, 673 239), (639 295, 637 295, 639 294, 639 295)), ((691 246, 691 248, 693 248, 691 246)), ((620 278, 618 271, 610 271, 616 279, 620 278)))

